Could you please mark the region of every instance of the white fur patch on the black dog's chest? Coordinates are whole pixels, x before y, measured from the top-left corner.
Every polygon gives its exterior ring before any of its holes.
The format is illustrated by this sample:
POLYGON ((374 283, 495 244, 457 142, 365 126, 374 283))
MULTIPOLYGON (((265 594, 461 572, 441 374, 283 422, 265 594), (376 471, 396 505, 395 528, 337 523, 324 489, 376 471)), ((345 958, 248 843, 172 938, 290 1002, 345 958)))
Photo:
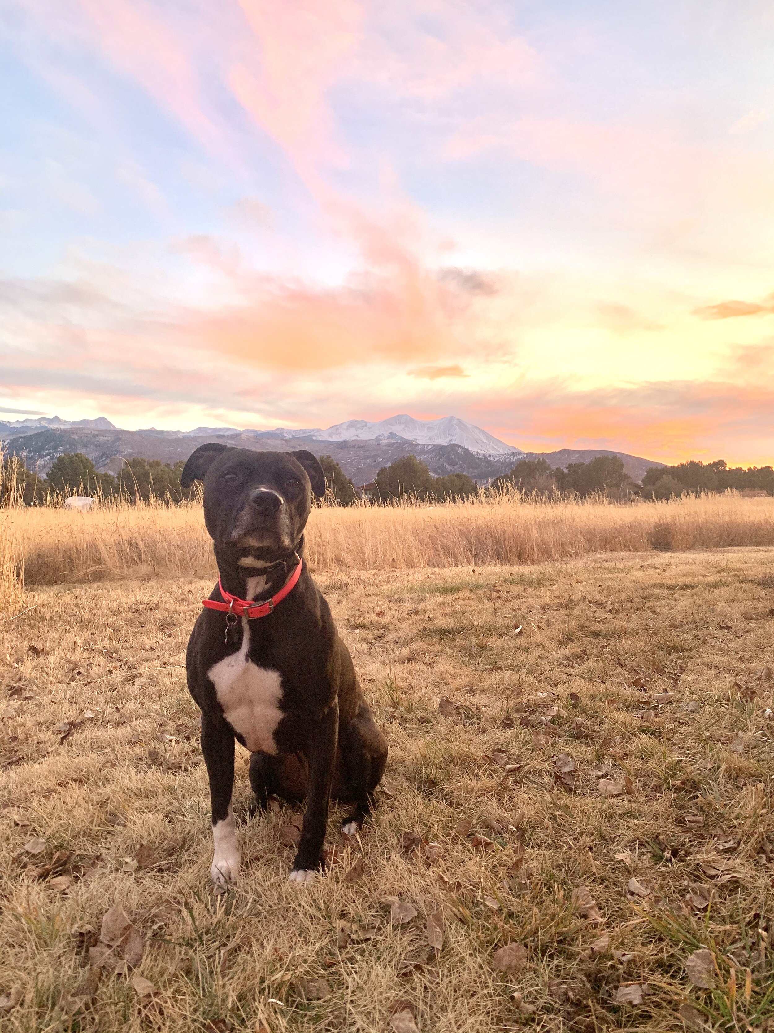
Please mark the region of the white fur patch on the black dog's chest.
POLYGON ((207 677, 226 720, 244 738, 248 749, 277 753, 275 729, 282 719, 282 678, 279 670, 258 667, 249 659, 250 625, 246 617, 241 627, 239 652, 214 663, 207 677))

